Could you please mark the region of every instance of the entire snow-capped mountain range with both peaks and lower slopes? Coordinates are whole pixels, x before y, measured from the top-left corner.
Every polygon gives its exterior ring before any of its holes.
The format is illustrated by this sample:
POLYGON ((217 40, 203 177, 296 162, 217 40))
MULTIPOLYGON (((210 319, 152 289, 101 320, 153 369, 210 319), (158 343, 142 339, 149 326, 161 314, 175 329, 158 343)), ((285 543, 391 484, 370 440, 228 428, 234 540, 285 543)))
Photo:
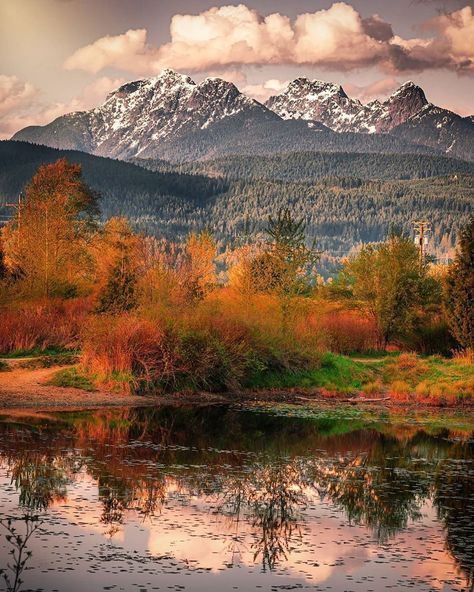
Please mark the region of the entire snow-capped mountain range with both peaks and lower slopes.
POLYGON ((427 102, 413 82, 366 105, 341 86, 297 78, 265 105, 220 78, 164 70, 90 111, 13 136, 112 158, 172 161, 290 151, 447 153, 474 160, 474 122, 427 102))

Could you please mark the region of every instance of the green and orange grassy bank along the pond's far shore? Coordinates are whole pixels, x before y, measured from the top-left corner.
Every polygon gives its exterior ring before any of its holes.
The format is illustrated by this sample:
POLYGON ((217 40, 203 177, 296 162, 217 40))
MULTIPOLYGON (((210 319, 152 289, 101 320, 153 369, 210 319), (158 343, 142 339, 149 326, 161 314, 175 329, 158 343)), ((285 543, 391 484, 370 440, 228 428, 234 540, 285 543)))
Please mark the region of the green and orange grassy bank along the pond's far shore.
MULTIPOLYGON (((51 384, 112 392, 126 390, 131 382, 128 376, 115 376, 104 381, 80 367, 60 370, 51 384)), ((320 365, 313 370, 255 372, 244 383, 243 389, 225 389, 230 397, 245 396, 245 392, 265 393, 288 389, 308 389, 308 393, 327 399, 361 397, 374 399, 388 397, 396 403, 456 406, 474 403, 474 365, 462 358, 446 359, 439 356, 417 356, 401 353, 385 357, 363 359, 332 353, 321 356, 320 365)), ((169 389, 149 388, 148 392, 172 395, 169 389)), ((182 391, 193 396, 193 389, 182 391)), ((199 389, 195 389, 198 392, 199 389)), ((215 391, 217 392, 217 391, 215 391)), ((222 391, 221 391, 222 392, 222 391)), ((271 398, 271 397, 270 397, 271 398)))

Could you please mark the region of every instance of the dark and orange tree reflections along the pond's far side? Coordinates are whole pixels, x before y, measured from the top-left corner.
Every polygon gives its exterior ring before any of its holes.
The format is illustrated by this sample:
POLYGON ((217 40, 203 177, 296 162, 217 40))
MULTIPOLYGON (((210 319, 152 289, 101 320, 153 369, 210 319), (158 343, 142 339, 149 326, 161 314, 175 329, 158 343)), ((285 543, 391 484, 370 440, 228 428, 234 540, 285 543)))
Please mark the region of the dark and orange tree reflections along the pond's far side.
POLYGON ((20 505, 33 510, 64 501, 80 472, 92 476, 110 536, 127 512, 152 519, 172 495, 217 499, 218 512, 231 518, 231 565, 245 521, 263 570, 275 569, 301 540, 305 506, 314 499, 330 500, 379 543, 418 520, 431 500, 446 547, 473 589, 472 441, 409 425, 350 431, 346 422, 343 431, 338 421, 216 406, 57 415, 40 426, 39 438, 24 425, 0 424, 0 455, 20 505))

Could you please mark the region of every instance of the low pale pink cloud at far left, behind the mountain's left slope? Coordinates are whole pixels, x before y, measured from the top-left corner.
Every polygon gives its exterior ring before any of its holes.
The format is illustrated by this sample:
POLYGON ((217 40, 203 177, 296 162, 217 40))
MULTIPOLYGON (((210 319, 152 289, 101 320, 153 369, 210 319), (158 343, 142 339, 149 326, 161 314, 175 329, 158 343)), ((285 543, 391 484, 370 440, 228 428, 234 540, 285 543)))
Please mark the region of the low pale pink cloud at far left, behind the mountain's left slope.
POLYGON ((10 138, 29 125, 44 125, 65 113, 95 107, 124 82, 123 78, 103 76, 85 86, 70 101, 46 104, 39 89, 29 82, 23 82, 16 76, 0 75, 0 139, 10 138))

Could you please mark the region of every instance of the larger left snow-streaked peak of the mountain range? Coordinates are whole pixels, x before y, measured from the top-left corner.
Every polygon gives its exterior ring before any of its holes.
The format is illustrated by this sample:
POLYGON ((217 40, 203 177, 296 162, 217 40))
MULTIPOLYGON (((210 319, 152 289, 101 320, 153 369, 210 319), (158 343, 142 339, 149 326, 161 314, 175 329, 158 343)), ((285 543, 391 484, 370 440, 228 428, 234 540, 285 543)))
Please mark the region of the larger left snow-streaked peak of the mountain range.
POLYGON ((206 78, 196 84, 189 76, 164 70, 154 78, 124 84, 96 109, 25 128, 14 139, 128 158, 238 114, 252 121, 277 119, 231 82, 206 78))

